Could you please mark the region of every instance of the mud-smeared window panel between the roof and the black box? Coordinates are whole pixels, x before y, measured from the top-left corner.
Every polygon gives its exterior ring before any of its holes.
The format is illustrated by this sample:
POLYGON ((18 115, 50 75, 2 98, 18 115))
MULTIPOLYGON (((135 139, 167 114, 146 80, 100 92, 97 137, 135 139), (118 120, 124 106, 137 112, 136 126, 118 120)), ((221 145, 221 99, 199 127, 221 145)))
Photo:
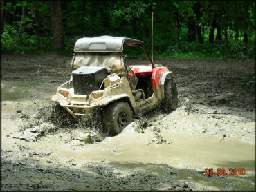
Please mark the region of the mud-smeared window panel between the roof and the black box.
POLYGON ((120 52, 77 52, 73 57, 71 69, 82 66, 104 66, 107 70, 124 68, 124 61, 120 52))

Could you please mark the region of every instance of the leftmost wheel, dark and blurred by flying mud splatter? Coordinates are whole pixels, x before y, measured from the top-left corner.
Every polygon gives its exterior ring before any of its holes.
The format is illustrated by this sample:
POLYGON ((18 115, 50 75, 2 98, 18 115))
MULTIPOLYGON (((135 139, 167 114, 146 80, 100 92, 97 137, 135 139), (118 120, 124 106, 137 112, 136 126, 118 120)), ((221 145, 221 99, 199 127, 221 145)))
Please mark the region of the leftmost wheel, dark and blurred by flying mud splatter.
POLYGON ((50 122, 57 126, 72 126, 75 124, 75 119, 65 108, 55 103, 51 111, 50 122))

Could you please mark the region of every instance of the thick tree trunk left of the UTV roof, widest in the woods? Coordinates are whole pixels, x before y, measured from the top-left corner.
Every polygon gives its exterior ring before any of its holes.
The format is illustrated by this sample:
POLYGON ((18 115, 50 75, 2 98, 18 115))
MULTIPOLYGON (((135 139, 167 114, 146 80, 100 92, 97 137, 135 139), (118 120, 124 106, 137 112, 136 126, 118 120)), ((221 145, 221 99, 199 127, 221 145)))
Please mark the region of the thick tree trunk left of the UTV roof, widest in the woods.
POLYGON ((51 28, 53 32, 53 49, 60 50, 64 47, 62 33, 62 8, 60 0, 50 1, 51 28))

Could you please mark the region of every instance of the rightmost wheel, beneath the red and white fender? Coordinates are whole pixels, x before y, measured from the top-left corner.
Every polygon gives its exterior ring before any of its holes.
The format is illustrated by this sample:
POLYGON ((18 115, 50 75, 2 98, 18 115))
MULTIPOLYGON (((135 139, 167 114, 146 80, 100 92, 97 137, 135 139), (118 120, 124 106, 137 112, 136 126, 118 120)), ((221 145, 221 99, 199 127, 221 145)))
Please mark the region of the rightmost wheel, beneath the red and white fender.
POLYGON ((165 111, 175 111, 178 107, 178 90, 172 78, 166 78, 164 84, 165 98, 162 100, 162 108, 165 111))

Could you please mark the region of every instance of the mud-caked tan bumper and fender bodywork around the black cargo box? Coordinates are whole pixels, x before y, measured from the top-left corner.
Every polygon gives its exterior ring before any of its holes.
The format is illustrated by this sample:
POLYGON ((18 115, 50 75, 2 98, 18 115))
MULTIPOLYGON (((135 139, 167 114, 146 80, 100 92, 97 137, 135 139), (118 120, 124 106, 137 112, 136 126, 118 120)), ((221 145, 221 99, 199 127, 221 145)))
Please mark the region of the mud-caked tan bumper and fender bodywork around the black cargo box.
POLYGON ((85 116, 89 110, 97 106, 105 106, 118 99, 128 99, 131 104, 134 104, 126 77, 119 77, 116 73, 113 73, 104 79, 104 82, 106 82, 104 83, 104 86, 106 86, 104 90, 93 91, 90 95, 76 95, 71 79, 57 89, 52 101, 58 102, 60 106, 66 108, 73 117, 85 116), (115 81, 111 80, 113 77, 115 81))

